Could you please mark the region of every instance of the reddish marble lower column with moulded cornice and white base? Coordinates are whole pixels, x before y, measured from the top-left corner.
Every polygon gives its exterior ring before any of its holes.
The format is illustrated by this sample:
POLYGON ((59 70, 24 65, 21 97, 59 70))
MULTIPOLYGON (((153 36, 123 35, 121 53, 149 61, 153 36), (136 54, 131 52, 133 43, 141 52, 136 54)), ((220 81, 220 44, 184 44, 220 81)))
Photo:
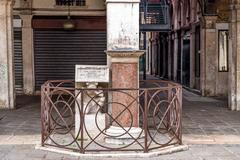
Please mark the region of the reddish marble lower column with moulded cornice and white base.
MULTIPOLYGON (((144 51, 141 50, 107 51, 111 64, 112 88, 129 89, 139 87, 139 57, 143 53, 144 51)), ((113 125, 106 131, 106 143, 127 145, 134 143, 136 139, 138 142, 143 142, 144 140, 144 132, 138 127, 138 100, 134 100, 134 98, 132 98, 138 97, 138 91, 132 90, 125 92, 127 94, 118 92, 114 92, 112 94, 112 102, 115 103, 111 106, 111 114, 113 117, 118 117, 115 120, 118 124, 113 123, 113 125), (119 115, 125 107, 128 108, 128 111, 119 115), (118 125, 121 125, 124 129, 117 127, 118 125)))

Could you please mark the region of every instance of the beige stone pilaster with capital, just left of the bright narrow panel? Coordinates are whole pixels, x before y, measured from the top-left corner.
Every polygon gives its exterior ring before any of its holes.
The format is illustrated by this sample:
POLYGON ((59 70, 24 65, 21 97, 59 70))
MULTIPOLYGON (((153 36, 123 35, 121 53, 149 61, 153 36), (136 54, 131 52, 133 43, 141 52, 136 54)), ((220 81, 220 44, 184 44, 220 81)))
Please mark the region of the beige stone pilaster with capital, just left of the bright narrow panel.
POLYGON ((204 96, 214 96, 216 91, 216 21, 217 16, 204 16, 201 44, 201 91, 204 96))

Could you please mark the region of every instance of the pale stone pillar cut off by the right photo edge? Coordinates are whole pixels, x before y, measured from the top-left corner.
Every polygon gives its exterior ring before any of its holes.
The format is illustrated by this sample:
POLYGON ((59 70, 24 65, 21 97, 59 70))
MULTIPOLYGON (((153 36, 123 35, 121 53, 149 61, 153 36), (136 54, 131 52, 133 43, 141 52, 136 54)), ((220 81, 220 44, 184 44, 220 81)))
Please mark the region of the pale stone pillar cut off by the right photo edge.
POLYGON ((231 5, 229 36, 229 108, 240 111, 240 0, 231 5))

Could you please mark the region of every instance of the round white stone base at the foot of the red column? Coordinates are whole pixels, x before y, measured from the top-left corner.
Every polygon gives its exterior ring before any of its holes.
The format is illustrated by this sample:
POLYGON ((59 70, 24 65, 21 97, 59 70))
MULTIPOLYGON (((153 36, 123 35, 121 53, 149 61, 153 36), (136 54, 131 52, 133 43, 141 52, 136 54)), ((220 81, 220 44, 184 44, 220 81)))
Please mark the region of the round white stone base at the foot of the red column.
POLYGON ((139 127, 115 127, 111 126, 106 130, 105 142, 109 144, 128 145, 137 142, 144 142, 144 131, 139 127))

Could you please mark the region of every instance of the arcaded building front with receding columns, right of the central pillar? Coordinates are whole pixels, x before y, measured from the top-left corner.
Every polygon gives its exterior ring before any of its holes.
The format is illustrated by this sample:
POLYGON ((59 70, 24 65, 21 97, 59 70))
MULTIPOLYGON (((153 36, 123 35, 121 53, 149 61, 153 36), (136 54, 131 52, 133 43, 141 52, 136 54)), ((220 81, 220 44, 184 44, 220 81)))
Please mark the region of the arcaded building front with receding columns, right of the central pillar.
POLYGON ((168 2, 171 29, 167 34, 149 33, 147 72, 181 83, 204 96, 228 97, 229 107, 239 110, 236 77, 239 2, 168 2))

